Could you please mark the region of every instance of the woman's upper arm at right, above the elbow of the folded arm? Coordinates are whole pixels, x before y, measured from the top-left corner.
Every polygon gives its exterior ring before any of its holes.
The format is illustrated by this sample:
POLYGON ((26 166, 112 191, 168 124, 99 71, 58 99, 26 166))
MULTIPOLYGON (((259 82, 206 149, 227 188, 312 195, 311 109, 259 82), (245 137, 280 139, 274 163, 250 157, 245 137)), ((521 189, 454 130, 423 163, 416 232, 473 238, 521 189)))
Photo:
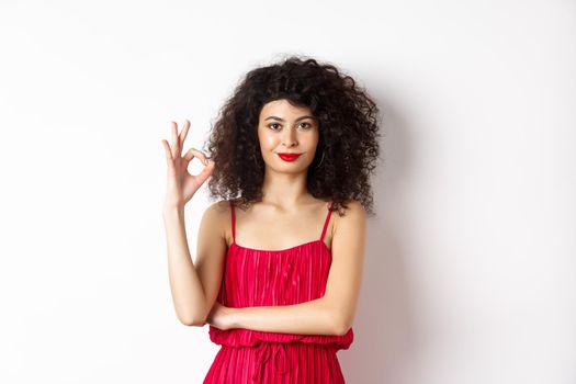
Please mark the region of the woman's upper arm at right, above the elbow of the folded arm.
POLYGON ((324 297, 336 310, 338 328, 345 334, 355 314, 362 284, 366 214, 362 204, 352 201, 345 216, 335 221, 331 253, 324 297))

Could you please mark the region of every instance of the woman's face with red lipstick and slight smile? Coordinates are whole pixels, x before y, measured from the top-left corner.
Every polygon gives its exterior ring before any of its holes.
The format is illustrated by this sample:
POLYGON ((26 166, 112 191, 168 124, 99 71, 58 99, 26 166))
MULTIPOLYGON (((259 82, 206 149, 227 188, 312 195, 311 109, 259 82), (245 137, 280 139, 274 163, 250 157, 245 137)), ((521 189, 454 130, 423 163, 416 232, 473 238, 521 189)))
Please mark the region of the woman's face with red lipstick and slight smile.
POLYGON ((260 112, 258 139, 267 168, 289 173, 306 171, 318 137, 318 122, 307 106, 294 106, 282 99, 264 104, 260 112))

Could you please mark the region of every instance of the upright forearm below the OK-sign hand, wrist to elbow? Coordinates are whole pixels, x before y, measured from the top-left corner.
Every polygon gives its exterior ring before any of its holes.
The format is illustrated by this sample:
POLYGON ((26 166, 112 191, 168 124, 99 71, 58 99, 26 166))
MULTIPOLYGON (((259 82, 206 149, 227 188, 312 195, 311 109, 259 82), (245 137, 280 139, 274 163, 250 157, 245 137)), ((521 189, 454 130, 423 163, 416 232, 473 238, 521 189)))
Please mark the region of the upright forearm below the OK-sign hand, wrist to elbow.
POLYGON ((206 312, 205 294, 188 246, 184 207, 165 207, 162 216, 170 290, 177 316, 182 324, 201 325, 206 312))

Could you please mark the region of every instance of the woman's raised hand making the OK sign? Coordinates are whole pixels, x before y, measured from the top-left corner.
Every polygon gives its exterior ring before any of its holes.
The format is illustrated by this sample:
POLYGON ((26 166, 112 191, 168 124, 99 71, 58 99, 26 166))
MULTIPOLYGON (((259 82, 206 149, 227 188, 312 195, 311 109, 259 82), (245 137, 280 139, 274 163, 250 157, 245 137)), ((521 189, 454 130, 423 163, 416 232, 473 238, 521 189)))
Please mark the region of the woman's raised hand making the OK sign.
POLYGON ((214 161, 207 160, 206 156, 200 150, 190 148, 184 156, 181 156, 189 128, 190 121, 187 120, 182 132, 179 134, 177 123, 172 122, 172 146, 162 139, 168 166, 167 206, 185 205, 214 170, 214 161), (202 172, 196 176, 188 172, 188 165, 194 157, 199 158, 205 166, 202 172))

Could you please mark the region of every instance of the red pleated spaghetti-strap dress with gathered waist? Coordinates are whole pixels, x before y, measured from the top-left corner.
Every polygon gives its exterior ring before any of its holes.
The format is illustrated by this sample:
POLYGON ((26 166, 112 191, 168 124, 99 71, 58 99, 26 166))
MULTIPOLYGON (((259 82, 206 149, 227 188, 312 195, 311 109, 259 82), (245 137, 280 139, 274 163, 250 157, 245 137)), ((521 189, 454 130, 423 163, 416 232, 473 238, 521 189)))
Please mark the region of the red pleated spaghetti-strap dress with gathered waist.
MULTIPOLYGON (((331 206, 331 204, 330 204, 331 206)), ((236 244, 230 202, 233 242, 225 259, 217 301, 228 307, 292 305, 324 296, 331 263, 324 235, 282 250, 262 250, 236 244)), ((336 352, 348 349, 352 328, 342 336, 266 332, 210 326, 210 339, 222 346, 206 383, 345 383, 336 352)))

